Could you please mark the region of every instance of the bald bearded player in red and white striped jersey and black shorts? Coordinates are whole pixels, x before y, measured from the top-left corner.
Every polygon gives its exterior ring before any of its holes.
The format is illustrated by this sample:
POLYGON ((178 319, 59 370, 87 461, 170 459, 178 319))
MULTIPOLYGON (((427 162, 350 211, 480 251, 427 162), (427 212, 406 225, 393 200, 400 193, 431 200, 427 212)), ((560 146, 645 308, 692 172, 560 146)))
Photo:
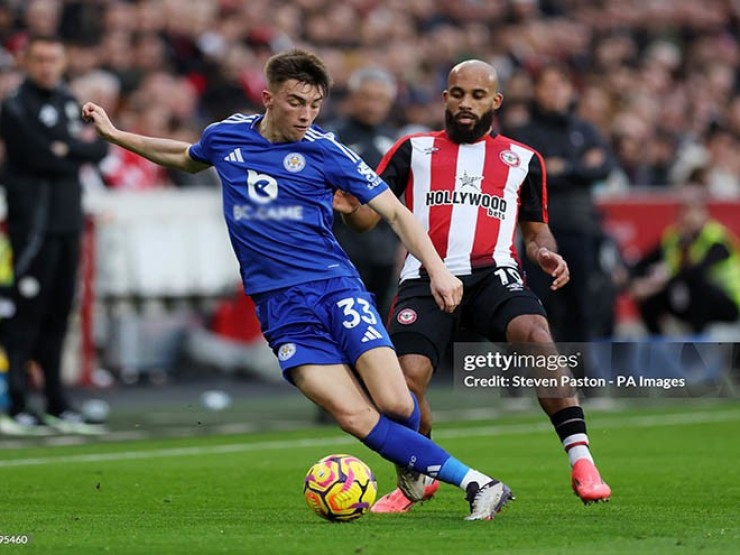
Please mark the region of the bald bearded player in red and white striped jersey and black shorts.
MULTIPOLYGON (((444 313, 434 309, 421 261, 410 254, 401 270, 389 332, 409 388, 419 400, 420 432, 427 435, 432 416, 426 389, 459 326, 492 341, 536 344, 542 352, 555 352, 542 303, 520 273, 517 226, 526 255, 552 276, 551 288, 560 289, 570 279, 547 225, 542 157, 492 132, 494 111, 503 102, 494 68, 480 60, 456 65, 443 98, 445 129, 401 138, 377 169, 464 286, 461 305, 444 313)), ((335 207, 357 231, 378 220, 373 211, 341 193, 335 207)), ((594 465, 577 397, 538 394, 568 454, 573 490, 584 503, 607 500, 611 489, 594 465)), ((436 488, 437 483, 427 479, 423 499, 436 488)), ((373 511, 406 512, 417 501, 397 489, 382 497, 373 511)))

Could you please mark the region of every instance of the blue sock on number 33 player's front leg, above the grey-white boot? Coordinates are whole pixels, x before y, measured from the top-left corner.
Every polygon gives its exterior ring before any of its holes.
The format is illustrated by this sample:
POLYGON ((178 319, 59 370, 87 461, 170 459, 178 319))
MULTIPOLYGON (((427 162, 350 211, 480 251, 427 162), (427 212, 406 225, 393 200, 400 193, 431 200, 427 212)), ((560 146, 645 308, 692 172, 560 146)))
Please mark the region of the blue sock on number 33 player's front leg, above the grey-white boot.
POLYGON ((380 420, 362 440, 383 458, 416 472, 459 486, 467 466, 418 432, 380 415, 380 420))

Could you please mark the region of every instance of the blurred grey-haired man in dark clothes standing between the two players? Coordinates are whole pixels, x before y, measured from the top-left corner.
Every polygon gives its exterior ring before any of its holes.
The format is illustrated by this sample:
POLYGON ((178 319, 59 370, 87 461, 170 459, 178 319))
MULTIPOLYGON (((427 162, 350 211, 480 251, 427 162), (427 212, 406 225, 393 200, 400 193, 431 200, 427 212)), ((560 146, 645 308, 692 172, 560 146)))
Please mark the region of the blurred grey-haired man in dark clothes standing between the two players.
MULTIPOLYGON (((344 115, 325 128, 354 150, 371 168, 398 138, 398 131, 387 123, 396 99, 396 80, 387 71, 365 67, 353 72, 343 99, 344 115)), ((367 233, 357 234, 336 218, 334 235, 360 272, 362 282, 375 295, 378 310, 388 314, 393 284, 398 272, 399 244, 385 222, 367 233)))

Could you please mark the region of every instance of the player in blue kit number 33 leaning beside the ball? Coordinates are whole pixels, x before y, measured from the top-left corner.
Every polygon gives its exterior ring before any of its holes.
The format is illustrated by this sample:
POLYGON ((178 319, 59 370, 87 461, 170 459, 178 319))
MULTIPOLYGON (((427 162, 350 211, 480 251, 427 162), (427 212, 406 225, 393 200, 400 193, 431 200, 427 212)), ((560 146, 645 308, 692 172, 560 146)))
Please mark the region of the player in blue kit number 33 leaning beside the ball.
POLYGON ((409 392, 372 296, 332 235, 341 189, 377 211, 423 264, 441 310, 452 312, 462 284, 387 184, 332 134, 313 125, 331 86, 320 58, 303 50, 265 65, 264 114, 235 114, 193 144, 117 129, 86 103, 98 134, 157 164, 195 173, 214 166, 223 184, 229 236, 244 290, 283 374, 347 433, 395 463, 399 488, 421 499, 426 474, 460 487, 466 520, 493 518, 511 490, 418 433, 409 392))

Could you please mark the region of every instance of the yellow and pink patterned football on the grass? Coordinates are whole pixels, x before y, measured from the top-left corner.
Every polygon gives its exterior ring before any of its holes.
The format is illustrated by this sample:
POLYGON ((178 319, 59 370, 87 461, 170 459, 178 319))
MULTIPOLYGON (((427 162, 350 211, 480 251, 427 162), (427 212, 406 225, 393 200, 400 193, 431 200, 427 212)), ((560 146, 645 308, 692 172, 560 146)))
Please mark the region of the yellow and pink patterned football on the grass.
POLYGON ((372 470, 357 457, 329 455, 306 473, 306 504, 332 522, 355 520, 370 510, 378 493, 372 470))

